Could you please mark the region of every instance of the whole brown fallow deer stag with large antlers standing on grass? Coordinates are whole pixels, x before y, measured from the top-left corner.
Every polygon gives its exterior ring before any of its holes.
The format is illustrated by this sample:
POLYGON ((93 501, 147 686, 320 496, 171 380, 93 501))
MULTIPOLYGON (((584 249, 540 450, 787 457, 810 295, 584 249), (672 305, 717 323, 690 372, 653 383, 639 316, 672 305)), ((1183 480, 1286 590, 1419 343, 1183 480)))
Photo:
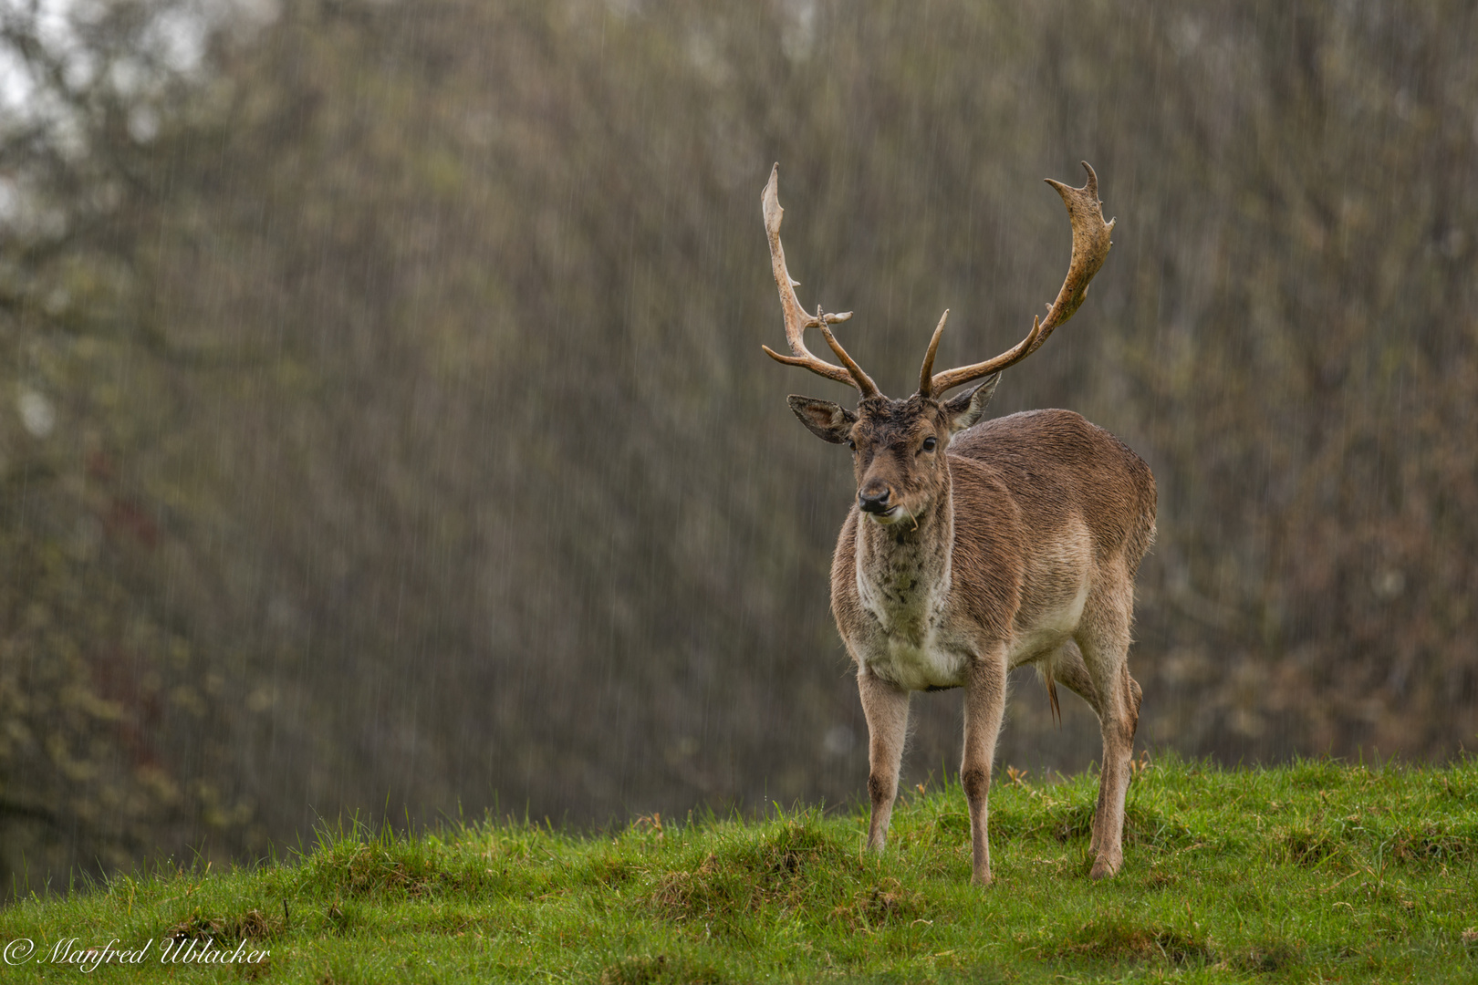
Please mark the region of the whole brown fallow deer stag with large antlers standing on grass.
POLYGON ((1073 226, 1067 279, 1045 320, 995 359, 934 372, 944 319, 924 354, 918 393, 884 396, 847 354, 832 325, 851 312, 807 315, 780 248, 779 165, 764 189, 770 264, 785 309, 788 366, 856 387, 848 411, 789 397, 817 437, 851 449, 857 498, 832 558, 837 629, 857 665, 868 718, 868 846, 881 851, 899 789, 909 693, 965 688, 959 777, 970 803, 974 882, 990 882, 986 803, 1005 713, 1007 673, 1036 665, 1052 712, 1061 681, 1098 713, 1103 769, 1094 815, 1092 877, 1123 862, 1123 800, 1140 685, 1129 676, 1134 576, 1154 539, 1154 477, 1114 436, 1072 411, 1030 411, 980 422, 1001 371, 1036 351, 1077 310, 1108 254, 1098 177, 1083 188, 1048 180, 1073 226), (806 349, 817 328, 841 365, 806 349), (944 399, 944 393, 986 377, 944 399))

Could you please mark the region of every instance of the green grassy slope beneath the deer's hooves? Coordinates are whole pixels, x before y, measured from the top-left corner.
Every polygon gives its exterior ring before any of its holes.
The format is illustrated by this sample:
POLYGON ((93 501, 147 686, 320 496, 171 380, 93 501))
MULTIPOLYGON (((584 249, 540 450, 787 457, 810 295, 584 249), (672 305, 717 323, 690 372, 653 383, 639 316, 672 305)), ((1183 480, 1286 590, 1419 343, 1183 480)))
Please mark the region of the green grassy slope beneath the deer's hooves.
MULTIPOLYGON (((291 864, 109 880, 0 911, 43 958, 117 938, 173 976, 273 982, 1474 982, 1478 759, 1445 768, 1157 762, 1129 792, 1125 868, 1088 879, 1095 777, 1005 771, 996 883, 968 885, 958 787, 900 800, 882 858, 862 811, 644 818, 606 836, 537 824, 340 830, 291 864), (164 966, 161 939, 268 951, 164 966)), ((115 945, 117 947, 117 945, 115 945)), ((188 947, 188 944, 186 944, 188 947)))

